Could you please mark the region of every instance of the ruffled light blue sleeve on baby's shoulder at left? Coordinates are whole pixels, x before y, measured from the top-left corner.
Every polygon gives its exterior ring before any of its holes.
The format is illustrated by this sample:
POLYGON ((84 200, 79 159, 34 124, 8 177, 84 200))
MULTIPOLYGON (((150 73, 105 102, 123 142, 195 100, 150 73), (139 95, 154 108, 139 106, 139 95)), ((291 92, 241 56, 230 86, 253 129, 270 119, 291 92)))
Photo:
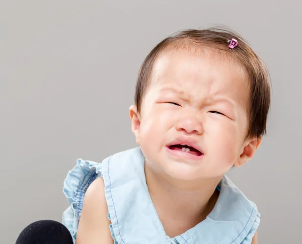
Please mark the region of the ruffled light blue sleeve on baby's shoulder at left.
POLYGON ((64 181, 63 192, 70 206, 63 213, 62 224, 71 233, 73 243, 77 237, 85 193, 98 177, 103 177, 101 163, 78 159, 77 165, 68 172, 64 181))

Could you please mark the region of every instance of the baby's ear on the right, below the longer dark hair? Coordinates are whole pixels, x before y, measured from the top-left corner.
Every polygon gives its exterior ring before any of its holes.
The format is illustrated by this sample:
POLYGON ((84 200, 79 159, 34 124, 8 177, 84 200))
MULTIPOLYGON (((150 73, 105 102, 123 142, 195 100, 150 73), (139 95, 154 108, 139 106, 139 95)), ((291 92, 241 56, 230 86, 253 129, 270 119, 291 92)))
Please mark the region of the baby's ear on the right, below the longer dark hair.
POLYGON ((234 166, 235 167, 241 167, 243 166, 247 161, 251 160, 258 149, 260 143, 262 141, 262 138, 258 139, 250 139, 245 143, 245 146, 243 147, 243 150, 240 154, 240 156, 237 158, 234 166))

